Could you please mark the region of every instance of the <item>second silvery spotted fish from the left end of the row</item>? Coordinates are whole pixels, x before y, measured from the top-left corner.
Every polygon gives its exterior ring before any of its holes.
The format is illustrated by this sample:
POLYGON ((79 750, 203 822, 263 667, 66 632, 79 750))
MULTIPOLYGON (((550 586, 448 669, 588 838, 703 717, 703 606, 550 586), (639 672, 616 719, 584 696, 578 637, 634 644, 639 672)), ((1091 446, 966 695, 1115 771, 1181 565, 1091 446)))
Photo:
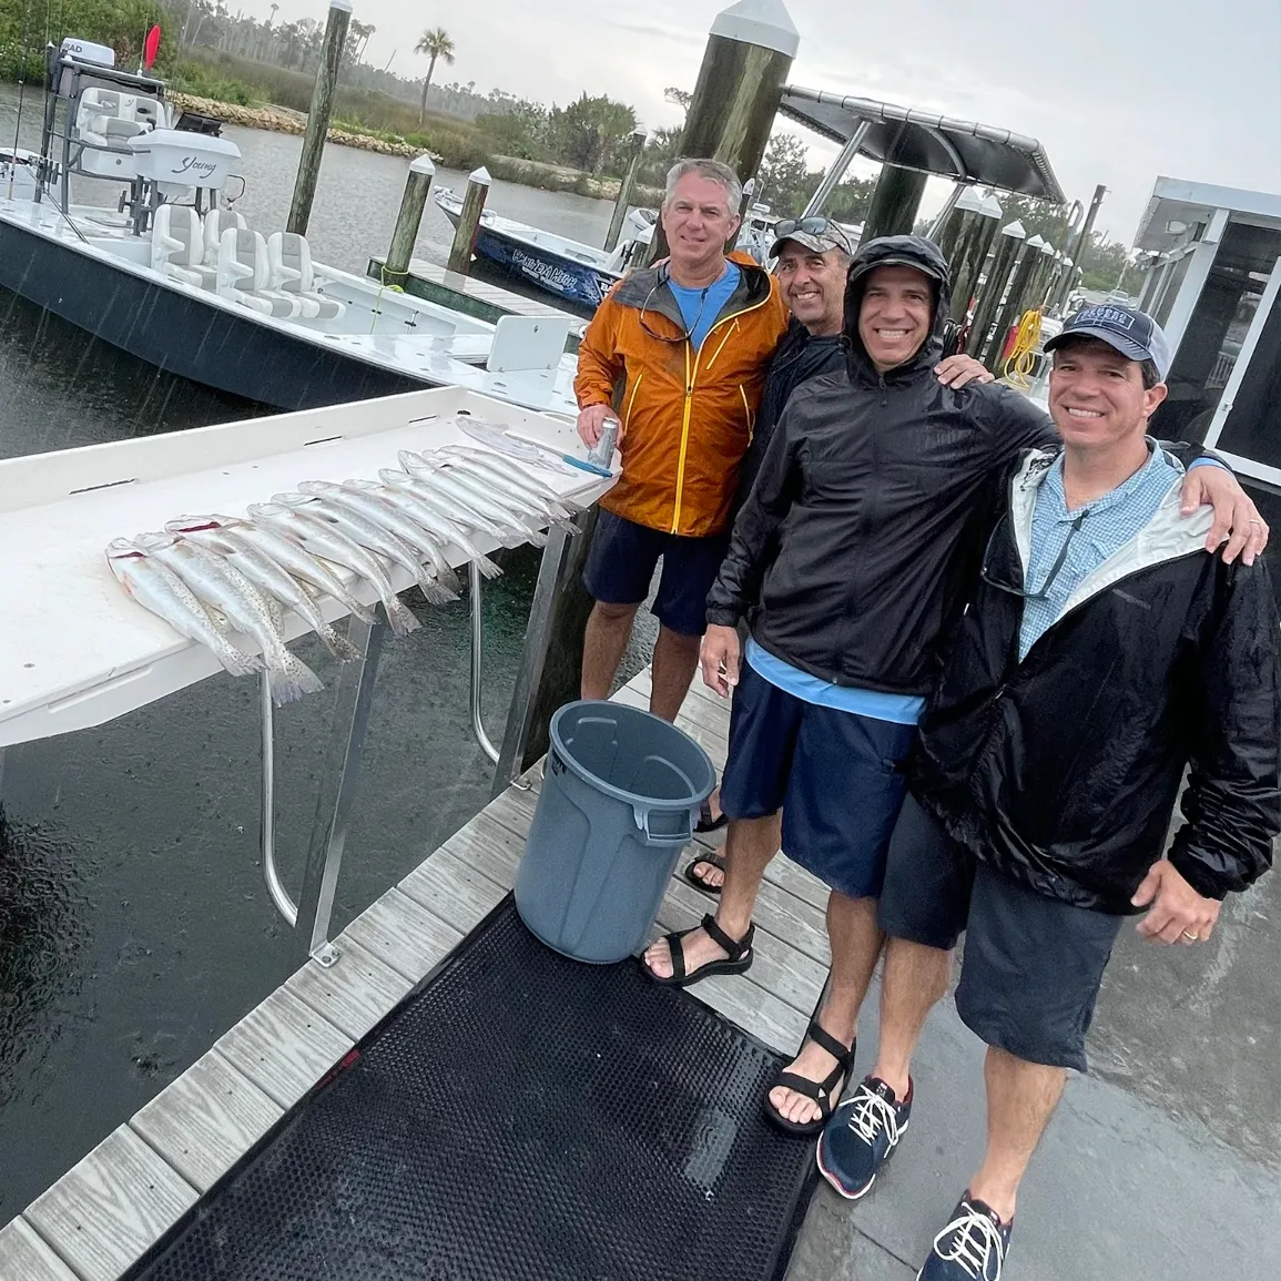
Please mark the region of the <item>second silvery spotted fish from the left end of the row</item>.
POLYGON ((174 534, 140 534, 135 544, 172 569, 208 605, 227 615, 263 651, 272 701, 279 707, 324 689, 324 681, 292 655, 277 630, 273 606, 233 565, 174 534))

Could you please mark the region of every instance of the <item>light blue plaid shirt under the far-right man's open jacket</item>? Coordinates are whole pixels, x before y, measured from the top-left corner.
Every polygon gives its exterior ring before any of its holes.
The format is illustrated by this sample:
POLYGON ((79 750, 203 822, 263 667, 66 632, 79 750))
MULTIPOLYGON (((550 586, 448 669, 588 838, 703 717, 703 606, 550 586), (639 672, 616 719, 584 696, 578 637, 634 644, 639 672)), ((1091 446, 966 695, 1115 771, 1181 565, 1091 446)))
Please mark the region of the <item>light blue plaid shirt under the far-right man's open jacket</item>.
POLYGON ((1031 555, 1024 583, 1029 593, 1045 594, 1040 600, 1024 601, 1024 621, 1018 632, 1020 660, 1027 656, 1041 633, 1063 612, 1063 606, 1081 580, 1114 556, 1152 520, 1171 485, 1182 479, 1182 466, 1153 442, 1152 457, 1129 480, 1094 502, 1068 511, 1063 494, 1063 456, 1054 460, 1036 491, 1031 555), (1045 591, 1045 579, 1065 543, 1067 556, 1054 582, 1049 584, 1049 591, 1045 591))

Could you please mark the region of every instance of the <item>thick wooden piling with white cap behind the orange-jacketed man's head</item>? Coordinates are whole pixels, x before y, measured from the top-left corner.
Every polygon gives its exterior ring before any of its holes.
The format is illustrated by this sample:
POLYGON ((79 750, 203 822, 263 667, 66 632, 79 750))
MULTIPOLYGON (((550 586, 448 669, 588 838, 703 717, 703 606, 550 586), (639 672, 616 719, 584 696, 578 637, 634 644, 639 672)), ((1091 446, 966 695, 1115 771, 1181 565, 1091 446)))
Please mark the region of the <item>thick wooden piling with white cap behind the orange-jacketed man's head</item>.
MULTIPOLYGON (((738 0, 716 14, 680 154, 720 160, 743 183, 756 177, 799 47, 801 36, 783 0, 738 0)), ((660 222, 649 260, 666 254, 660 222)))

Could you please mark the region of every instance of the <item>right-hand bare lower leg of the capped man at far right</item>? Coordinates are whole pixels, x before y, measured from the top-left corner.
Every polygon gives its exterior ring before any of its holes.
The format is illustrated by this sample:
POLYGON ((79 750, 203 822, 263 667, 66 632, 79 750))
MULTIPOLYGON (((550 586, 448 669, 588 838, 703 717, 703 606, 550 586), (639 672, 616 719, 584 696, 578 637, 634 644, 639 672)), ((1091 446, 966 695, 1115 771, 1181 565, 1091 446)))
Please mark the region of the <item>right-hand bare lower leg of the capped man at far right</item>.
POLYGON ((970 1195, 986 1202, 1008 1223, 1015 1217, 1018 1184, 1063 1093, 1067 1072, 989 1045, 983 1076, 988 1086, 988 1150, 970 1180, 970 1195))

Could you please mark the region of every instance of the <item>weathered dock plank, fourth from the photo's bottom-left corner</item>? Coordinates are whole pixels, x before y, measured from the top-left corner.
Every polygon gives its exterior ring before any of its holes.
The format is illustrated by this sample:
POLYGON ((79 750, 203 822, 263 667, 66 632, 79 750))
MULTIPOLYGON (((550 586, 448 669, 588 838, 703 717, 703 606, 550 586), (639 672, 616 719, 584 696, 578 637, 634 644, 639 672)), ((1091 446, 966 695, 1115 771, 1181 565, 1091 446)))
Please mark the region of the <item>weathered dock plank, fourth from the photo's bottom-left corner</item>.
POLYGON ((352 1040, 278 988, 214 1048, 282 1108, 291 1108, 352 1048, 352 1040))

